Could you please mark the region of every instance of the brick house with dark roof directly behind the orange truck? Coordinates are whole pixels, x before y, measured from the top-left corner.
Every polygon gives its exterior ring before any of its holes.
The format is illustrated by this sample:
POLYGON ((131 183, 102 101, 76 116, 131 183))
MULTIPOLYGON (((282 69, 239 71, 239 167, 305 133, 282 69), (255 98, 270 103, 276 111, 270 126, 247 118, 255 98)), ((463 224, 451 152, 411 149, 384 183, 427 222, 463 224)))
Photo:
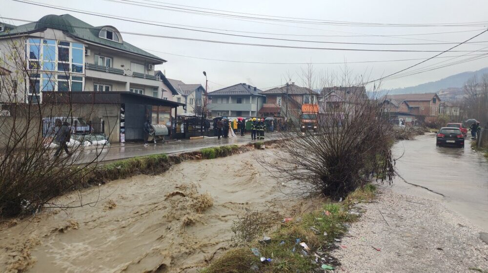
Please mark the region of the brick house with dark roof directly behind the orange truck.
POLYGON ((299 124, 303 104, 317 104, 319 93, 296 85, 294 82, 261 92, 266 103, 259 111, 261 116, 287 117, 299 124))

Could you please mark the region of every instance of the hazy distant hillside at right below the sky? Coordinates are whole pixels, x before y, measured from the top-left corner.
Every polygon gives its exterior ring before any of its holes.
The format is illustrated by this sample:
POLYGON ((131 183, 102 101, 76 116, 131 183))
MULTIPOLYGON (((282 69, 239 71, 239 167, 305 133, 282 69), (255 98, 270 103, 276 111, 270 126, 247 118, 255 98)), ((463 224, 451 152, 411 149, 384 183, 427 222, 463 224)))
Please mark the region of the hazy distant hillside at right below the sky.
POLYGON ((480 77, 481 75, 488 73, 488 67, 480 69, 478 71, 463 72, 456 75, 449 76, 436 81, 431 81, 416 86, 410 86, 405 88, 396 88, 390 90, 383 90, 388 94, 412 94, 412 93, 431 93, 438 92, 441 89, 451 87, 463 87, 464 83, 473 76, 480 77))

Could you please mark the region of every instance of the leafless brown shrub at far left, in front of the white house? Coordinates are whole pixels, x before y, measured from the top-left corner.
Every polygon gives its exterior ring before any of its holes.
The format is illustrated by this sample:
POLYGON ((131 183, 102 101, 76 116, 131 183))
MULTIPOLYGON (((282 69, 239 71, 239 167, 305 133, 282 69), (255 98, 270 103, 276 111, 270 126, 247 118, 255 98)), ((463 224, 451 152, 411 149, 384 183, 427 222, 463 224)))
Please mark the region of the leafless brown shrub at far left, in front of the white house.
MULTIPOLYGON (((41 60, 25 58, 23 40, 8 40, 4 47, 9 51, 0 56, 4 68, 0 73, 0 218, 30 215, 53 197, 81 188, 83 177, 96 167, 104 148, 94 150, 84 164, 79 164, 84 149, 81 141, 72 141, 72 156, 53 155, 60 124, 52 120, 46 127, 46 118, 73 120, 81 117, 81 109, 72 103, 70 70, 61 74, 41 70, 45 67, 41 60), (41 103, 43 92, 54 94, 54 84, 61 84, 56 81, 60 75, 68 79, 63 102, 41 103)), ((83 115, 89 118, 90 109, 84 109, 83 115)))

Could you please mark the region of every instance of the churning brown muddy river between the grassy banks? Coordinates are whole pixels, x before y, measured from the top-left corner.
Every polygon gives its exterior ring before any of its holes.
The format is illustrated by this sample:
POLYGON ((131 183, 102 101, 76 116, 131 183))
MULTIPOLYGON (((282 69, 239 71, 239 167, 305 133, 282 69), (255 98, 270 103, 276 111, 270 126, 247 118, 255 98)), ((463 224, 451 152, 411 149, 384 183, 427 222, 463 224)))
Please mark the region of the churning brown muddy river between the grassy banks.
POLYGON ((174 165, 56 200, 51 209, 0 227, 0 272, 197 272, 231 244, 247 209, 285 213, 297 201, 260 166, 255 151, 174 165))

